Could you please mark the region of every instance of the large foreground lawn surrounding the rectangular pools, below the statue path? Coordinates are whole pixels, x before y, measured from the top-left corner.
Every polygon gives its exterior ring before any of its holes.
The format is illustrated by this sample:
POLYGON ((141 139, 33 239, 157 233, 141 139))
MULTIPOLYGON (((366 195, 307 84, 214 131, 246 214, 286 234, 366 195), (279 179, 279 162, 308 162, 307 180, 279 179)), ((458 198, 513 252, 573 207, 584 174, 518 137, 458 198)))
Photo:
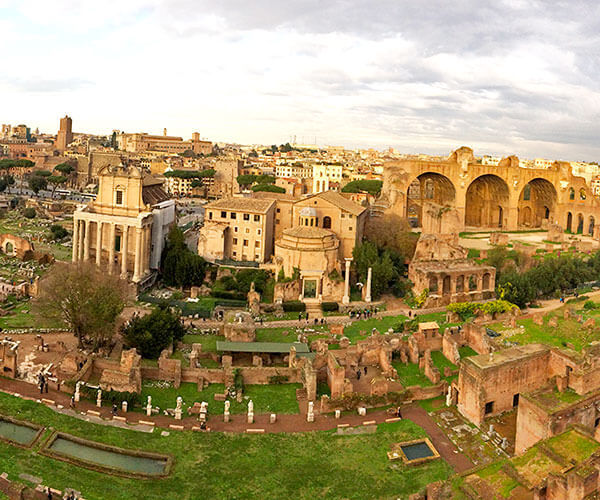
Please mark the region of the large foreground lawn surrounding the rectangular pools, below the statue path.
MULTIPOLYGON (((209 407, 210 408, 210 407, 209 407)), ((136 480, 94 472, 0 442, 0 470, 18 480, 26 472, 54 488, 72 487, 89 500, 197 498, 408 498, 452 474, 441 459, 420 466, 390 462, 392 443, 425 432, 409 420, 382 424, 374 434, 225 434, 174 432, 161 436, 105 427, 0 394, 0 413, 128 449, 174 456, 166 479, 136 480)))

